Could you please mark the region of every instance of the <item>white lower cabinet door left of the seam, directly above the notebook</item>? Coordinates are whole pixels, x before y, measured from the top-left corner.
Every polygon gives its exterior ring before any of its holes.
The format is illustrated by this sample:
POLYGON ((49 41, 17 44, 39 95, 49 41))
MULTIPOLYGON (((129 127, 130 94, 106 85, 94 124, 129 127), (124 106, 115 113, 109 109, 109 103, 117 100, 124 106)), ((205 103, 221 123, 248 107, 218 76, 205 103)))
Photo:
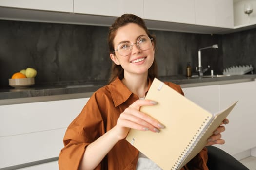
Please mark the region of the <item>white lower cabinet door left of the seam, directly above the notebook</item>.
POLYGON ((219 86, 206 85, 182 88, 185 97, 211 113, 219 111, 219 86))

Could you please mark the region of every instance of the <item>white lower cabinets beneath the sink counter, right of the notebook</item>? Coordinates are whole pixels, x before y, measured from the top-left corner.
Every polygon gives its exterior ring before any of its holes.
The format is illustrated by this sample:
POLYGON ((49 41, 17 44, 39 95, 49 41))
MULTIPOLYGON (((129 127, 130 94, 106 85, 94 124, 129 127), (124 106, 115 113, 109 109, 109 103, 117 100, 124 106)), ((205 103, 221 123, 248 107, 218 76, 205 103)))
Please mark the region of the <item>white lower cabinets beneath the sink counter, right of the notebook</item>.
POLYGON ((256 151, 256 81, 182 89, 185 97, 212 113, 238 100, 228 116, 230 123, 222 133, 226 143, 216 146, 240 158, 242 154, 239 153, 253 148, 252 151, 256 151))

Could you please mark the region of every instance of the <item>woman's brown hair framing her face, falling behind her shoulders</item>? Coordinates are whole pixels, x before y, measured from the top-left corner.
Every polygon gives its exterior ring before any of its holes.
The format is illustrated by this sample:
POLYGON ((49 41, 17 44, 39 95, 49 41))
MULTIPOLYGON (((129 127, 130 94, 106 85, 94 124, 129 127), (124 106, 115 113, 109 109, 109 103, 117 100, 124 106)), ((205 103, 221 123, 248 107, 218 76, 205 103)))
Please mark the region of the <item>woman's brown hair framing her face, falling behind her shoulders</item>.
MULTIPOLYGON (((109 53, 114 52, 114 44, 113 40, 116 36, 116 32, 118 28, 123 27, 129 23, 135 23, 138 24, 141 28, 145 30, 149 38, 153 38, 154 42, 154 49, 156 51, 156 38, 155 36, 151 35, 146 27, 145 22, 143 19, 140 17, 133 15, 133 14, 123 14, 121 17, 118 17, 115 22, 109 27, 109 32, 108 32, 108 46, 109 46, 109 53)), ((115 55, 115 54, 114 54, 115 55)), ((112 67, 111 67, 111 75, 109 79, 109 83, 113 82, 116 77, 119 77, 119 79, 123 79, 124 75, 124 70, 121 67, 121 65, 116 65, 112 61, 112 67)), ((157 62, 156 59, 154 58, 152 66, 148 69, 148 77, 153 79, 154 77, 158 77, 158 67, 157 67, 157 62)))

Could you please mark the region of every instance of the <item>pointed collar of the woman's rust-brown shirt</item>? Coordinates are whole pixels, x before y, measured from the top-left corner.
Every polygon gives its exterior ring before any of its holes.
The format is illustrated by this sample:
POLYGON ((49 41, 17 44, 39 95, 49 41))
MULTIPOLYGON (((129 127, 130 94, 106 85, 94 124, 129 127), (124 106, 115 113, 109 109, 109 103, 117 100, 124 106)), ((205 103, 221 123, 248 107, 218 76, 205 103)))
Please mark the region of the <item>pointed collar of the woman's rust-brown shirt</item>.
MULTIPOLYGON (((148 89, 149 89, 150 85, 152 84, 152 80, 150 78, 148 78, 148 82, 149 82, 149 84, 148 84, 148 89)), ((109 86, 109 90, 110 90, 113 102, 115 104, 115 107, 126 102, 129 99, 129 97, 133 94, 122 83, 122 81, 118 77, 113 82, 111 82, 108 86, 109 86)), ((137 96, 137 98, 138 98, 138 96, 137 96)))

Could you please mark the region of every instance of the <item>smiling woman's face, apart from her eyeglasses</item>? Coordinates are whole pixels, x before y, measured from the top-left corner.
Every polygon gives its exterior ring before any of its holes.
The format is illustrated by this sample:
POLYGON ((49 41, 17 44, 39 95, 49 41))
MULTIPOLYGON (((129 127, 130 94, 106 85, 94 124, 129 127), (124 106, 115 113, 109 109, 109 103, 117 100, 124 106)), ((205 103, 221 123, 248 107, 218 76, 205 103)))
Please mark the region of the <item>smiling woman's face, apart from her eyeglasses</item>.
MULTIPOLYGON (((134 23, 129 23, 123 27, 118 28, 116 36, 113 40, 114 49, 118 48, 119 44, 123 42, 128 42, 130 44, 137 43, 141 36, 146 36, 147 34, 143 28, 134 23)), ((139 40, 141 42, 141 40, 139 40)), ((143 41, 143 40, 142 40, 143 41)), ((150 40, 149 40, 150 41, 150 40)), ((147 74, 148 69, 151 67, 154 61, 154 45, 147 50, 141 50, 136 44, 132 46, 131 53, 127 56, 122 56, 118 51, 114 54, 110 54, 110 58, 117 65, 121 65, 124 69, 124 76, 127 74, 147 74)))

